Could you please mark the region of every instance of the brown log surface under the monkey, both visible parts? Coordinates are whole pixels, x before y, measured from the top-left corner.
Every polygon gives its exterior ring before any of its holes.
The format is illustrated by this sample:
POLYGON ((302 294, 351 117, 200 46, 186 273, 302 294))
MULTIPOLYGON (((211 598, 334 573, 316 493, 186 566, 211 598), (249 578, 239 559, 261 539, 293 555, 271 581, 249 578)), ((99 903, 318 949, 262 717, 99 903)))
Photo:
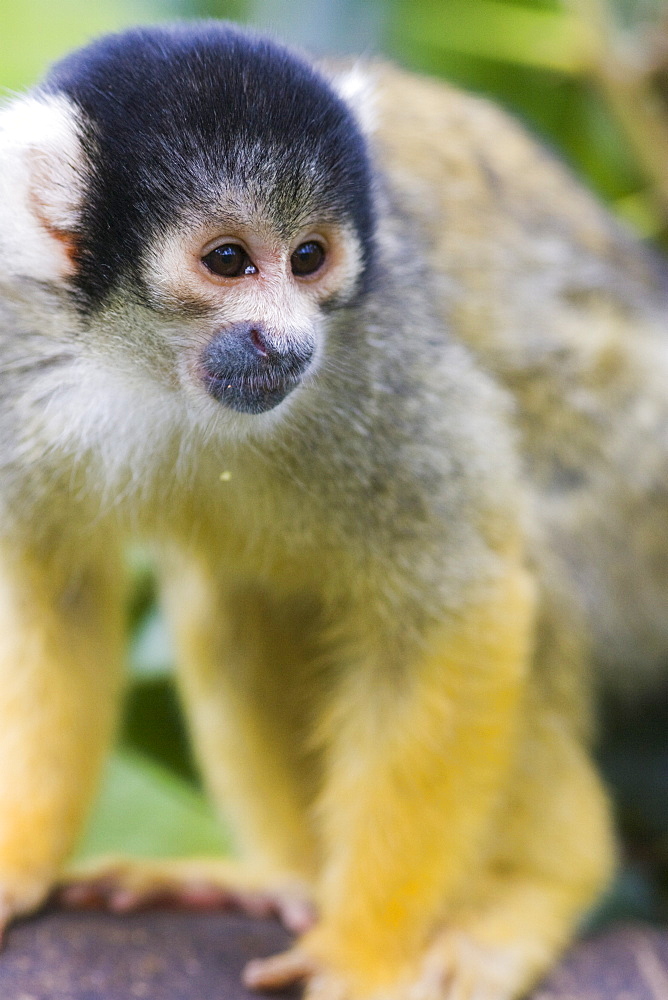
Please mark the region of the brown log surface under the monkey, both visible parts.
MULTIPOLYGON (((280 951, 274 920, 153 910, 52 910, 16 924, 0 959, 2 1000, 253 1000, 248 959, 280 951)), ((300 990, 272 993, 297 1000, 300 990)), ((580 941, 532 1000, 666 1000, 668 928, 622 924, 580 941)))

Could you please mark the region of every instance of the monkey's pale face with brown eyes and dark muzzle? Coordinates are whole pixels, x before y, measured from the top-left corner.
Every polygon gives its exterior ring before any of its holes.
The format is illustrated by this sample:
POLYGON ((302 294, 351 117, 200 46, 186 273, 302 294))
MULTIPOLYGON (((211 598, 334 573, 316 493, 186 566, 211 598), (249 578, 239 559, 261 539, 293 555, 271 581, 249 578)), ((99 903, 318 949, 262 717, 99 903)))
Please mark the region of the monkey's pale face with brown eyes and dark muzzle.
POLYGON ((351 226, 317 217, 287 238, 257 217, 213 217, 151 252, 144 289, 156 309, 197 315, 177 336, 186 390, 262 413, 317 371, 327 316, 354 294, 361 248, 351 226))

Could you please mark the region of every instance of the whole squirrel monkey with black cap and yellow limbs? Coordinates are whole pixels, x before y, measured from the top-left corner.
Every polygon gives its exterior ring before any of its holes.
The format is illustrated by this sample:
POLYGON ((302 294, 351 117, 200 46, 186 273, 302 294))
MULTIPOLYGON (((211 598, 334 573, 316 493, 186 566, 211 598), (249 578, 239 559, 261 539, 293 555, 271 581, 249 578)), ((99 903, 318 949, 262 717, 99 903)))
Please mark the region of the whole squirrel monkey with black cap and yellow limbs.
POLYGON ((4 106, 0 261, 2 921, 89 807, 138 538, 221 884, 317 911, 247 983, 518 997, 614 863, 592 678, 668 651, 665 264, 485 101, 213 22, 4 106))

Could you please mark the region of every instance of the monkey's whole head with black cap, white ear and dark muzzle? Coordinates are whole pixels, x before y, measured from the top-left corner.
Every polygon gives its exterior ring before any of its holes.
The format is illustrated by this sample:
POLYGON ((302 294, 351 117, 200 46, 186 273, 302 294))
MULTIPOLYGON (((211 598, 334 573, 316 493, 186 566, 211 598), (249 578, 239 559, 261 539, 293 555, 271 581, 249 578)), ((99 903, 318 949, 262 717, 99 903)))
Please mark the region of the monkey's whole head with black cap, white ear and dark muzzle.
POLYGON ((0 257, 64 293, 88 350, 242 413, 308 381, 372 266, 348 104, 221 23, 109 36, 56 65, 0 114, 2 196, 0 257))

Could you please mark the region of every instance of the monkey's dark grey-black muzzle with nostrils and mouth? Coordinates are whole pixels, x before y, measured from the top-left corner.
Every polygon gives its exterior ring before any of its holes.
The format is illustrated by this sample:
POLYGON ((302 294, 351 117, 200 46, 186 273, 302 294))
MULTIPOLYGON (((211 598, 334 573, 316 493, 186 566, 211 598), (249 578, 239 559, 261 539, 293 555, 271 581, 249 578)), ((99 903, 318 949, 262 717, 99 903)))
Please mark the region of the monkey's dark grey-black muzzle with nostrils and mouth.
POLYGON ((201 378, 214 399, 240 413, 263 413, 299 385, 314 344, 261 324, 237 323, 217 333, 201 355, 201 378))

